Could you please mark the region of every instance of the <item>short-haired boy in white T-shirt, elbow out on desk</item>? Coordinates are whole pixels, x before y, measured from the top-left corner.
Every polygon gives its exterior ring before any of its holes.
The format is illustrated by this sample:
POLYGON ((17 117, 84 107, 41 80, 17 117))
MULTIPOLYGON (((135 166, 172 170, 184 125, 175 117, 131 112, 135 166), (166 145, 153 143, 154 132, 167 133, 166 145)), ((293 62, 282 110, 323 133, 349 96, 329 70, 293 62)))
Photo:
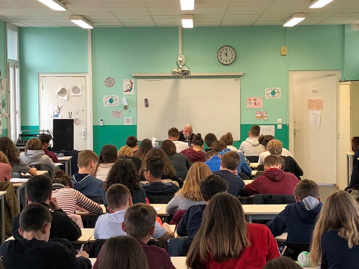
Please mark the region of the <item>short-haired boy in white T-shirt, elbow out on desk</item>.
MULTIPOLYGON (((96 239, 109 239, 113 236, 126 235, 126 232, 122 230, 122 223, 126 210, 132 205, 130 190, 122 184, 113 184, 106 191, 106 200, 110 213, 98 217, 94 237, 96 239)), ((154 239, 167 244, 168 239, 175 237, 168 224, 164 224, 162 227, 156 222, 155 227, 154 239)))

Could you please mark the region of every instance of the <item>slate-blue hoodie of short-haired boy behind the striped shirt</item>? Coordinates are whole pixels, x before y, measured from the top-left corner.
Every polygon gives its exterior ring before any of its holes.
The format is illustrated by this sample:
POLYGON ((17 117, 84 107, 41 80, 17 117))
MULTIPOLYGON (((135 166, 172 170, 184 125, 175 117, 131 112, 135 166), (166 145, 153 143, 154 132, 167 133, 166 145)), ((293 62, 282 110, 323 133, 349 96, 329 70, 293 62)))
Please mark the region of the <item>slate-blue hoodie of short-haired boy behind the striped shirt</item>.
POLYGON ((103 196, 102 186, 104 182, 90 174, 75 173, 71 177, 73 188, 89 198, 103 196))

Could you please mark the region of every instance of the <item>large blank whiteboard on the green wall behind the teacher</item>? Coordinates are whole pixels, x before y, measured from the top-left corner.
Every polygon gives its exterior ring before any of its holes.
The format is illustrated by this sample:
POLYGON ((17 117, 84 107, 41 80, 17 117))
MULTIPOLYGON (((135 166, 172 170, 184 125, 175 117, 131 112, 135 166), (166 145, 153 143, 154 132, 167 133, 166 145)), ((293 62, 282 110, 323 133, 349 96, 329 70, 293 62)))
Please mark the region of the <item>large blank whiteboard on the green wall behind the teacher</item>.
POLYGON ((202 137, 231 132, 240 140, 240 79, 137 79, 137 136, 139 140, 168 139, 168 130, 185 124, 202 137), (148 99, 148 107, 145 99, 148 99))

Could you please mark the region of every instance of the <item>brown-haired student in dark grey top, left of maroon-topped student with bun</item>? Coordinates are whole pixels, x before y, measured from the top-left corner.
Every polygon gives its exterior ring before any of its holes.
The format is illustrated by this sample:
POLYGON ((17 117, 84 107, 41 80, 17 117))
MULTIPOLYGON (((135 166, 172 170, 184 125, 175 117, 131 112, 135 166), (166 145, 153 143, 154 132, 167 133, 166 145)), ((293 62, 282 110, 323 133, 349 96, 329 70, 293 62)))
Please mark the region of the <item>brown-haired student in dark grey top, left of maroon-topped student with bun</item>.
POLYGON ((165 151, 168 158, 170 159, 173 167, 176 170, 176 176, 184 179, 188 173, 188 169, 192 165, 187 156, 183 155, 182 153, 177 153, 176 145, 171 140, 163 141, 161 144, 161 149, 165 151))

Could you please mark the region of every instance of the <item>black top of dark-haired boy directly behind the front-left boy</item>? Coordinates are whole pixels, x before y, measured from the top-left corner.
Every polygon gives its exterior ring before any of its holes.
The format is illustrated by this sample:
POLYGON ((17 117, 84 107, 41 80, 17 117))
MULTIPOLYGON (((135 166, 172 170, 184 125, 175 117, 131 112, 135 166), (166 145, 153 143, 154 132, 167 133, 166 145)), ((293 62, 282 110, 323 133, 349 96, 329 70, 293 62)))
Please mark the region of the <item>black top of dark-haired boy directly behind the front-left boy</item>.
MULTIPOLYGON (((40 203, 43 206, 50 208, 48 204, 40 203)), ((66 238, 69 241, 75 241, 81 236, 81 229, 74 223, 65 212, 59 211, 50 212, 52 215, 50 238, 66 238)), ((18 228, 20 214, 16 215, 12 220, 12 236, 14 238, 21 237, 18 228)))

